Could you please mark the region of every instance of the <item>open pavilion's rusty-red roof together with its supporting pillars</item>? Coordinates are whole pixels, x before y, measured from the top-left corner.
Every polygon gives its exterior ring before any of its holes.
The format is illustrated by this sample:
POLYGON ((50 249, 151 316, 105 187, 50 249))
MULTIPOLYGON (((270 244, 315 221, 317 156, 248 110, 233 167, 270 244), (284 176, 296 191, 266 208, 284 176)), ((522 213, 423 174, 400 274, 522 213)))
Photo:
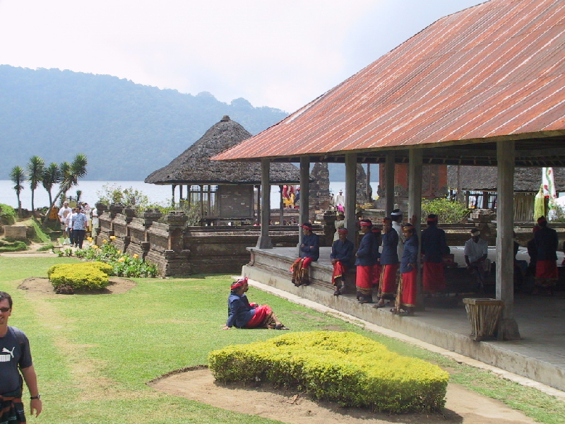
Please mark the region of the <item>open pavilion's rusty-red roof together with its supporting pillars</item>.
MULTIPOLYGON (((565 165, 564 103, 565 2, 491 0, 437 20, 213 159, 261 162, 263 211, 271 162, 300 163, 301 196, 309 196, 309 163, 345 162, 349 211, 357 163, 384 164, 387 182, 395 163, 408 163, 410 216, 420 214, 422 166, 497 167, 496 298, 505 302, 499 338, 516 340, 514 168, 565 165)), ((387 211, 393 195, 387 187, 387 211)), ((347 227, 355 228, 352 214, 347 227)), ((267 225, 257 247, 270 247, 267 225)))

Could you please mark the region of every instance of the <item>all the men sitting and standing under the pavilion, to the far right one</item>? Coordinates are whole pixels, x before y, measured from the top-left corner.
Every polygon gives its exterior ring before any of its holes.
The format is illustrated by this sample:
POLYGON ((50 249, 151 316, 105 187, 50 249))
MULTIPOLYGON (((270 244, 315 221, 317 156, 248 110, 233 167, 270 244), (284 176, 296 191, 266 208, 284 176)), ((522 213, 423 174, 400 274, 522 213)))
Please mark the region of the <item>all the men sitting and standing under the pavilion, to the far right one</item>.
MULTIPOLYGON (((393 305, 391 312, 401 315, 413 314, 417 295, 417 264, 419 240, 415 232, 416 217, 403 223, 403 213, 393 210, 383 218, 382 228, 376 228, 371 220, 359 220, 362 238, 355 246, 347 240, 343 213, 338 212, 335 221, 335 237, 331 249, 333 265, 332 283, 334 295, 343 293, 347 269, 356 266, 355 286, 359 303, 373 303, 376 289, 376 308, 393 305)), ((312 232, 312 225, 302 225, 304 236, 300 257, 292 264, 292 283, 308 285, 309 265, 319 258, 319 237, 312 232)), ((537 247, 535 287, 551 288, 557 281, 557 232, 547 227, 547 220, 538 220, 534 242, 537 247)), ((444 258, 450 254, 446 233, 438 228, 438 217, 427 216, 427 228, 422 230, 422 286, 424 293, 438 293, 446 288, 444 258)), ((484 293, 484 282, 490 269, 488 243, 480 237, 480 229, 472 228, 470 239, 465 242, 464 256, 467 270, 475 276, 476 290, 484 293)), ((536 290, 536 289, 535 289, 536 290)), ((534 293, 535 293, 534 290, 534 293)))

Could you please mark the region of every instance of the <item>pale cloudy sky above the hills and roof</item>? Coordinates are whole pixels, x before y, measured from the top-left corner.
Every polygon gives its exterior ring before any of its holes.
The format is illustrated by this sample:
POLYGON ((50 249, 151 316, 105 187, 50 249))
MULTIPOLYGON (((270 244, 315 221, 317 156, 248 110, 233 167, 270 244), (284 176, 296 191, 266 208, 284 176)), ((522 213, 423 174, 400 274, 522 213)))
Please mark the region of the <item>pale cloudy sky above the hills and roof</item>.
POLYGON ((0 0, 0 64, 293 112, 477 0, 0 0))

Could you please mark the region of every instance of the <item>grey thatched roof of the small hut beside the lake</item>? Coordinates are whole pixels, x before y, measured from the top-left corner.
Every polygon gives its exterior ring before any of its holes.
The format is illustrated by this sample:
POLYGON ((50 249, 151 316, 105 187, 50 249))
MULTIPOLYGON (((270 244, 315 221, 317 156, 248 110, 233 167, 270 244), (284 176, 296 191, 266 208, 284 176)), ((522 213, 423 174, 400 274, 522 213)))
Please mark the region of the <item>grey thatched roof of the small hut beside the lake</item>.
MULTIPOLYGON (((151 173, 149 184, 261 184, 260 163, 209 160, 251 134, 225 116, 169 165, 151 173)), ((292 163, 271 163, 271 184, 299 184, 299 169, 292 163)))

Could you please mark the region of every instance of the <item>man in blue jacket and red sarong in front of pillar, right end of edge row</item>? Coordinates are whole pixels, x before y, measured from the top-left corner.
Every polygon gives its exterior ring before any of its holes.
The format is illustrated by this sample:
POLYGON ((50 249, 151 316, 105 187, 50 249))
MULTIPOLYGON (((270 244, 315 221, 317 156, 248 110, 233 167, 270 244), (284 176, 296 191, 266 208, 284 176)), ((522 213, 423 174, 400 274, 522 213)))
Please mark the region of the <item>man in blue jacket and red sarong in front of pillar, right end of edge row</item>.
POLYGON ((416 307, 416 282, 418 263, 418 236, 412 224, 403 226, 404 252, 400 259, 400 282, 396 291, 396 305, 393 314, 413 315, 416 307))

